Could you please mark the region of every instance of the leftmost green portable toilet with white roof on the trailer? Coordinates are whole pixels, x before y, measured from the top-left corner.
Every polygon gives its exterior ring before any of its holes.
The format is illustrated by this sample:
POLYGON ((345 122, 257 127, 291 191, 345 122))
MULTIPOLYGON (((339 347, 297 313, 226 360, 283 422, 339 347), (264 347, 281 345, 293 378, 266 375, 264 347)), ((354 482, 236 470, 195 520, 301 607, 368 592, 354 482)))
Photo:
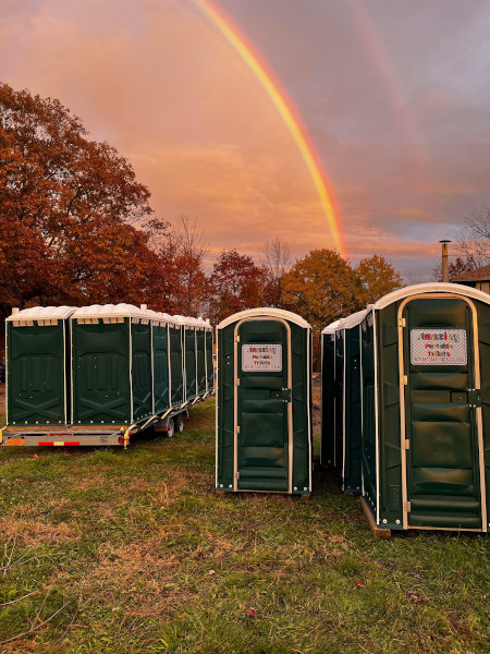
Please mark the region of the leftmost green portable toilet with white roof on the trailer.
POLYGON ((8 425, 66 425, 71 306, 33 306, 5 320, 8 425))

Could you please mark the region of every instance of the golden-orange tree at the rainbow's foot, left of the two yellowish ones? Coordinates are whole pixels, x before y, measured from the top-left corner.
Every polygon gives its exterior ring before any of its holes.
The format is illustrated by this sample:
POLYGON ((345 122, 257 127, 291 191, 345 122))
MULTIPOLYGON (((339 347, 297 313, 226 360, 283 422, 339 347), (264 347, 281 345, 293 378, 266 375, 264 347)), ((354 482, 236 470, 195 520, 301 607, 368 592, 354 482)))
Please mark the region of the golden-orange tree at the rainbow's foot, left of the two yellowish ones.
POLYGON ((282 280, 282 302, 321 329, 364 305, 364 289, 350 264, 334 250, 314 250, 282 280))

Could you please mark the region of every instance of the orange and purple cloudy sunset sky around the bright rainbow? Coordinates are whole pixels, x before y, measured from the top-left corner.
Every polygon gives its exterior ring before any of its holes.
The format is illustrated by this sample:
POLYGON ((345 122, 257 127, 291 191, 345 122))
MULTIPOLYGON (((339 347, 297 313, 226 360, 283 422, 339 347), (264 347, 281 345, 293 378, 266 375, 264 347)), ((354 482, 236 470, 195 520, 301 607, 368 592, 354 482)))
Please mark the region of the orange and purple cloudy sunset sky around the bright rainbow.
MULTIPOLYGON (((488 0, 216 0, 279 81, 352 262, 431 279, 490 205, 488 0)), ((156 215, 210 256, 334 244, 297 144, 194 0, 0 0, 0 80, 58 98, 127 157, 156 215)))

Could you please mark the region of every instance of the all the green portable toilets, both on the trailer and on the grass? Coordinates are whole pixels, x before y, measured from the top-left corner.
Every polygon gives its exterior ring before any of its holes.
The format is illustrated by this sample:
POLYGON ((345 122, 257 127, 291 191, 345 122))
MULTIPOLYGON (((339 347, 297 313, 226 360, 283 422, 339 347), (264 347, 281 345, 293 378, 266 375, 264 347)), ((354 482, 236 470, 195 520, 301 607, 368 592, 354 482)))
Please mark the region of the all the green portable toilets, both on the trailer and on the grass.
MULTIPOLYGON (((254 308, 220 323, 217 346, 216 491, 308 496, 310 325, 254 308)), ((3 444, 115 445, 121 429, 126 445, 212 392, 212 350, 208 322, 145 305, 13 314, 3 444)), ((321 463, 380 528, 486 532, 490 295, 417 284, 327 326, 321 463)))

